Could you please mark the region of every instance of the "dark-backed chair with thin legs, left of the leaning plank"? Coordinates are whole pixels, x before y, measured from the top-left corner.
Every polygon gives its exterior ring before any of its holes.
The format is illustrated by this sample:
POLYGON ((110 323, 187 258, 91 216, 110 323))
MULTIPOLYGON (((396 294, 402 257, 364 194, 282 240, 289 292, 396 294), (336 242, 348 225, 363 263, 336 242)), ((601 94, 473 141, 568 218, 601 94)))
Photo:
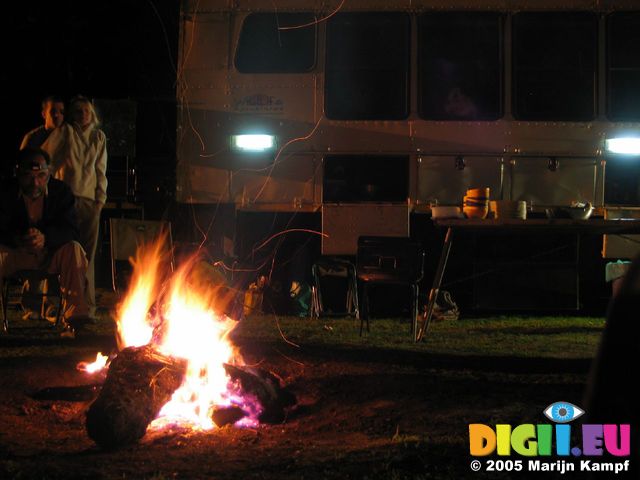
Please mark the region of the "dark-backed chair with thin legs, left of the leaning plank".
POLYGON ((406 285, 411 288, 411 328, 418 322, 419 282, 424 270, 424 249, 408 237, 359 237, 356 271, 362 284, 360 335, 364 322, 369 331, 369 286, 406 285))

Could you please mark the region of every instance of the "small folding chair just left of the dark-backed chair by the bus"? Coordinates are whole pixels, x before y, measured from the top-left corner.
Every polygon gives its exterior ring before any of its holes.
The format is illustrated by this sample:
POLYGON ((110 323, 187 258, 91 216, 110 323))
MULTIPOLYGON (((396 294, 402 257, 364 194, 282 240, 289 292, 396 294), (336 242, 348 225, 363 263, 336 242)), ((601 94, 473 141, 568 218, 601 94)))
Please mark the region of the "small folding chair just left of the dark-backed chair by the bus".
POLYGON ((347 284, 344 311, 332 311, 331 315, 353 315, 360 318, 358 305, 358 282, 356 280, 356 266, 343 258, 323 257, 311 267, 313 286, 311 287, 311 317, 319 318, 329 314, 322 300, 321 280, 325 277, 344 278, 347 284))

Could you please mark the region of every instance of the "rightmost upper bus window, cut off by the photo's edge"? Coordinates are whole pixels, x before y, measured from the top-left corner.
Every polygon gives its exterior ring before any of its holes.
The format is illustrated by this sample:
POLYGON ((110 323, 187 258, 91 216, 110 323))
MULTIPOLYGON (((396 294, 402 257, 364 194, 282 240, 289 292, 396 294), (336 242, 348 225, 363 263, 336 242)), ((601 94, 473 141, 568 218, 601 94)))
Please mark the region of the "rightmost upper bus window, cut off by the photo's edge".
POLYGON ((607 116, 640 120, 640 12, 607 17, 607 116))

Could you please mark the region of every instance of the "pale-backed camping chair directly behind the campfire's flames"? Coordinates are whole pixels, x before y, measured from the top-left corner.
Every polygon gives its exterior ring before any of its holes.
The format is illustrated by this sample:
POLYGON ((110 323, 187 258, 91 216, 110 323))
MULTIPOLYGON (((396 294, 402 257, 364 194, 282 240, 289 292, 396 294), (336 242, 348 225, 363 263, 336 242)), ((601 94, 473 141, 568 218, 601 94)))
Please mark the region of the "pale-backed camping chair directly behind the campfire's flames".
POLYGON ((109 219, 111 283, 114 292, 119 293, 128 285, 132 270, 129 260, 135 258, 138 246, 157 240, 165 232, 165 247, 173 270, 171 222, 128 218, 109 219))

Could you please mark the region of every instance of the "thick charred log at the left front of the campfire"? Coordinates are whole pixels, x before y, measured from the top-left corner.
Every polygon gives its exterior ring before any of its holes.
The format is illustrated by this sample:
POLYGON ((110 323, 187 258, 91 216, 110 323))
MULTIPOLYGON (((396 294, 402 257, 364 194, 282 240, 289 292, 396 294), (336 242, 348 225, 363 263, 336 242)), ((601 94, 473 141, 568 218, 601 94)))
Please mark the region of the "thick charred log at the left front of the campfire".
POLYGON ((105 449, 141 439, 182 384, 186 370, 185 360, 164 356, 148 345, 122 350, 87 412, 89 437, 105 449))

